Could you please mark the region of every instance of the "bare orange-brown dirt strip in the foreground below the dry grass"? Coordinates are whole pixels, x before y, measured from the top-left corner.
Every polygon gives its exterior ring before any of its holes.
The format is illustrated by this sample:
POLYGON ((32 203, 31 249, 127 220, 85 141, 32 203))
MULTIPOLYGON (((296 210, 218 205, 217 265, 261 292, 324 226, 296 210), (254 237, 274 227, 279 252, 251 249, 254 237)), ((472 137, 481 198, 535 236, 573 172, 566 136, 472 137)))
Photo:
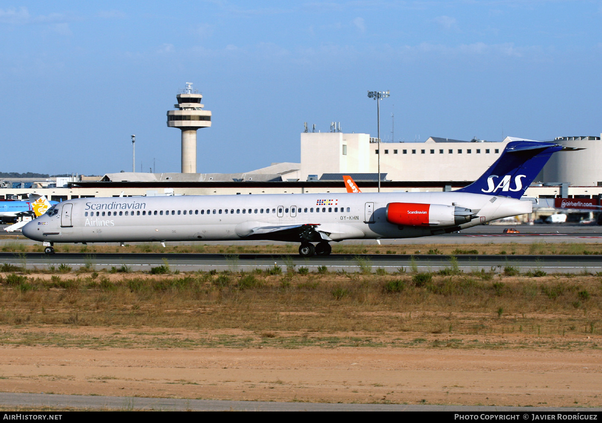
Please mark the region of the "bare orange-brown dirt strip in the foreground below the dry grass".
MULTIPOLYGON (((0 331, 13 330, 0 327, 0 331)), ((25 332, 30 329, 22 329, 25 332)), ((140 336, 137 330, 31 329, 140 336)), ((199 336, 178 330, 179 336, 199 336)), ((227 332, 227 331, 226 331, 227 332)), ((223 335, 224 330, 215 335, 223 335)), ((244 335, 230 331, 228 335, 244 335)), ((212 336, 206 332, 205 336, 212 336)), ((294 334, 293 334, 294 335, 294 334)), ((297 334, 298 335, 298 334, 297 334)), ((346 334, 349 335, 349 334, 346 334)), ((388 335, 391 336, 391 335, 388 335)), ((397 333, 411 340, 417 333, 397 333)), ((465 336, 513 344, 526 335, 465 336)), ((441 345, 458 335, 429 335, 441 345)), ((532 345, 538 338, 530 338, 532 345)), ((564 336, 584 348, 0 348, 0 391, 343 403, 602 406, 599 336, 564 336)), ((560 339, 558 339, 560 344, 560 339)), ((519 345, 517 343, 515 345, 519 345)), ((551 344, 550 344, 551 345, 551 344)))

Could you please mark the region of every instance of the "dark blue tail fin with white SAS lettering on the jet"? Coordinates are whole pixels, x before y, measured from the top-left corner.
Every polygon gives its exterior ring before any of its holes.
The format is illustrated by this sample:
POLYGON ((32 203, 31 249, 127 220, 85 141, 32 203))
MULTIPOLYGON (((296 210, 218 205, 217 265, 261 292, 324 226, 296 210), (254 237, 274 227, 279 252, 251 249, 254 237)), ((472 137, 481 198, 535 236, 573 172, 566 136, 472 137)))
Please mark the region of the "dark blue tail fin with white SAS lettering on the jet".
POLYGON ((512 141, 479 179, 457 192, 520 199, 550 156, 560 150, 559 144, 512 141))

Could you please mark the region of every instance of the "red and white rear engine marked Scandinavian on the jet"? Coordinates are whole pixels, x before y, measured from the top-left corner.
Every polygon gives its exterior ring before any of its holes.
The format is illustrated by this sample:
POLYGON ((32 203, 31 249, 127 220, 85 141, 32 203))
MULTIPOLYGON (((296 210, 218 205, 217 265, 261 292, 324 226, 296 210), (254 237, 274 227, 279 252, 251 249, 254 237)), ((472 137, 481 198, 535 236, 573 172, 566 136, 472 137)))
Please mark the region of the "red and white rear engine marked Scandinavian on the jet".
POLYGON ((403 226, 455 226, 470 222, 471 209, 442 204, 389 203, 386 220, 403 226))

